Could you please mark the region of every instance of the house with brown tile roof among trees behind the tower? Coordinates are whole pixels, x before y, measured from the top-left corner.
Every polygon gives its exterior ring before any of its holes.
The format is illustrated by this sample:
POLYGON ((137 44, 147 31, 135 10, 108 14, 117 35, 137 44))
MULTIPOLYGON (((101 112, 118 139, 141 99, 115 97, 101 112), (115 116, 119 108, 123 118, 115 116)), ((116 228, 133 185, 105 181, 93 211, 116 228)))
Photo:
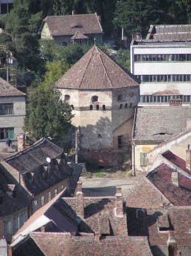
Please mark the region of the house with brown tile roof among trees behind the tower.
POLYGON ((96 13, 48 16, 43 19, 39 33, 41 38, 51 38, 60 46, 70 45, 77 32, 80 36, 80 44, 90 42, 102 45, 103 30, 96 13), (71 39, 72 38, 72 39, 71 39), (88 40, 87 40, 88 39, 88 40))

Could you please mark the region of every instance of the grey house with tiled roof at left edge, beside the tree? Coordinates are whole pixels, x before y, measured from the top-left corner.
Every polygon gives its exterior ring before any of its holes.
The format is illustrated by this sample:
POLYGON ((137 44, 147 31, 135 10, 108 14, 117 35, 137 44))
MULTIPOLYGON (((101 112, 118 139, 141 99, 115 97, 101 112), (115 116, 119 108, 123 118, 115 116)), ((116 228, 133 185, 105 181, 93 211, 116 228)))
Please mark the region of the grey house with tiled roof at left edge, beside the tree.
POLYGON ((26 94, 0 77, 0 152, 17 151, 17 137, 22 133, 26 116, 26 94), (11 145, 6 145, 6 139, 11 145))

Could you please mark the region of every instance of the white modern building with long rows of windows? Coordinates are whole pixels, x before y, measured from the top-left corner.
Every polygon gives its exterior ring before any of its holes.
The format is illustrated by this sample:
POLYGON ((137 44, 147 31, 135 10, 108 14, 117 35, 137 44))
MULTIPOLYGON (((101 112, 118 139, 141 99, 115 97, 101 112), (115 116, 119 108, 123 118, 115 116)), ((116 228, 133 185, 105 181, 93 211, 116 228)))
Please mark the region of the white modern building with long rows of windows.
POLYGON ((142 83, 139 106, 191 102, 191 26, 151 26, 146 40, 133 40, 131 72, 142 83), (159 33, 160 32, 160 33, 159 33))

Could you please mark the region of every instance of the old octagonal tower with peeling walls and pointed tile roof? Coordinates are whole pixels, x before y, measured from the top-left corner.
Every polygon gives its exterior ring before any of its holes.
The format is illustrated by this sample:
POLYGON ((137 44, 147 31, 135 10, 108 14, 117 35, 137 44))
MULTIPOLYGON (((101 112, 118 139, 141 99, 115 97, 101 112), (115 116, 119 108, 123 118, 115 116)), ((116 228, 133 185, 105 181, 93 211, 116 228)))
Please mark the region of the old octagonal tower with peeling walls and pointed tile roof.
POLYGON ((56 86, 72 107, 80 149, 100 164, 118 163, 118 150, 130 145, 139 80, 93 46, 56 86))

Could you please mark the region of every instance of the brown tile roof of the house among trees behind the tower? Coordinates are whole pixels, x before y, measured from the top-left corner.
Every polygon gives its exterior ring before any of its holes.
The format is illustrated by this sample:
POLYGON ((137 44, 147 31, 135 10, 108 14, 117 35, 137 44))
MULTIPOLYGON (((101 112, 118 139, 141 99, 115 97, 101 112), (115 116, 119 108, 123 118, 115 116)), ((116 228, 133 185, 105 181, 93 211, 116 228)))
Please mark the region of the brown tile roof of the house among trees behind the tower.
POLYGON ((43 19, 40 32, 47 22, 51 36, 74 35, 76 31, 84 35, 102 34, 102 26, 96 13, 64 16, 47 16, 43 19))

